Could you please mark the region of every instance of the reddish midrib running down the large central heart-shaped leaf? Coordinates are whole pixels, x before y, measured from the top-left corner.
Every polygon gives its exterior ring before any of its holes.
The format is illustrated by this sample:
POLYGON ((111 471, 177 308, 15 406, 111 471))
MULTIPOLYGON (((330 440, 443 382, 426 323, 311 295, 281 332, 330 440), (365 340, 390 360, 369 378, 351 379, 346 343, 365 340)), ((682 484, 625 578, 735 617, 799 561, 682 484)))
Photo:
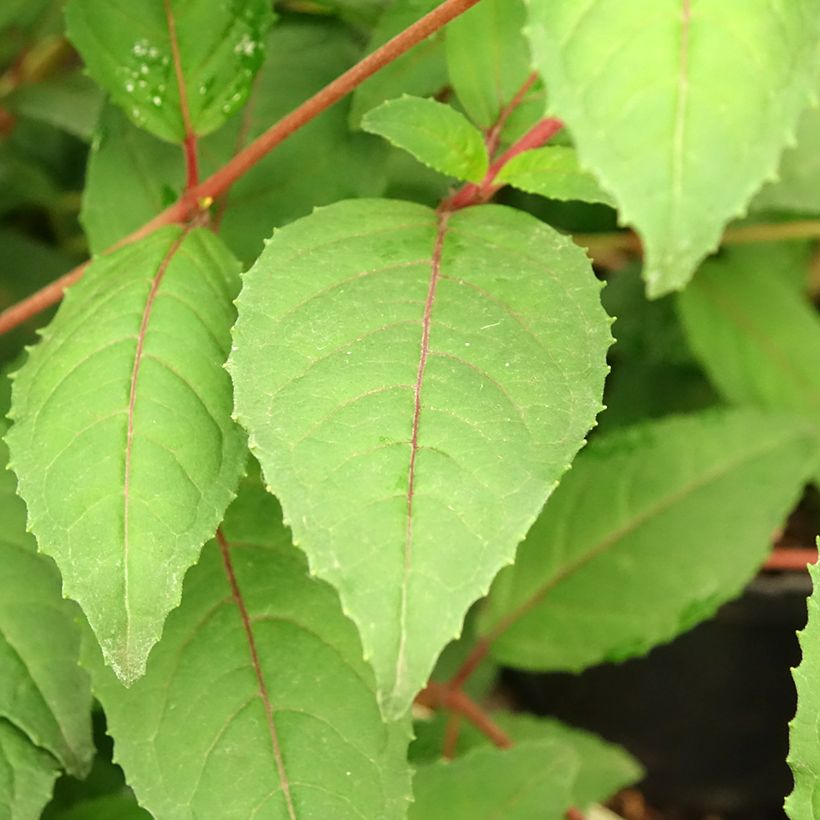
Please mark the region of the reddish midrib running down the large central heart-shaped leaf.
POLYGON ((436 241, 433 246, 433 257, 430 264, 430 284, 427 288, 427 299, 424 302, 422 317, 421 345, 419 351, 419 366, 416 371, 416 381, 413 386, 413 431, 410 436, 410 464, 407 468, 407 525, 404 538, 404 571, 401 585, 401 604, 399 611, 399 651, 396 657, 396 676, 394 686, 404 676, 406 663, 406 635, 407 635, 407 584, 410 576, 410 567, 413 561, 413 498, 416 485, 416 456, 419 449, 419 422, 421 420, 421 393, 424 385, 424 372, 427 368, 427 358, 430 353, 430 325, 433 314, 433 304, 436 301, 436 288, 441 277, 441 254, 444 248, 444 237, 447 234, 447 223, 450 212, 441 211, 437 214, 436 241))

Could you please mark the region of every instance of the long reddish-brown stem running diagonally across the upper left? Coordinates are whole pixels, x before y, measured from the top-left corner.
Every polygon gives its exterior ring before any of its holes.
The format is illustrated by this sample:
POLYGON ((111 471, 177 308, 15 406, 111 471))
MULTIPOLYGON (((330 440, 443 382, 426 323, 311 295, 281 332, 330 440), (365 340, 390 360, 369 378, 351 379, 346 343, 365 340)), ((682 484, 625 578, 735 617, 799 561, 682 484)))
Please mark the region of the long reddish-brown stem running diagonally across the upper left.
MULTIPOLYGON (((210 207, 214 199, 224 194, 241 176, 246 174, 269 151, 298 131, 325 109, 335 105, 339 100, 361 85, 380 69, 393 62, 413 46, 434 34, 455 17, 472 8, 479 0, 444 0, 444 2, 426 14, 401 34, 396 35, 381 48, 369 54, 351 69, 326 85, 290 114, 272 125, 265 133, 257 137, 247 148, 240 151, 232 160, 211 174, 204 182, 186 191, 180 199, 164 211, 157 214, 141 228, 123 237, 119 242, 103 251, 111 253, 123 245, 129 245, 162 228, 191 219, 197 212, 210 207)), ((37 293, 6 308, 0 313, 0 334, 45 310, 58 302, 63 291, 76 282, 83 274, 88 263, 84 263, 62 276, 37 293)))

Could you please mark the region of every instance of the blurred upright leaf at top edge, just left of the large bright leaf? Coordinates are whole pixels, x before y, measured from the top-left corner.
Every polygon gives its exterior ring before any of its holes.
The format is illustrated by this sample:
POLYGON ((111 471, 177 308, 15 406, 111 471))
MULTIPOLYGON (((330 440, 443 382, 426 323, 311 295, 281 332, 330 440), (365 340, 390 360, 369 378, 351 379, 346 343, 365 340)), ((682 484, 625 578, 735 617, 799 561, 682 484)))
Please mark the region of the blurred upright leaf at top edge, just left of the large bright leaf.
POLYGON ((522 0, 482 0, 447 26, 450 83, 482 128, 495 125, 532 71, 526 18, 522 0))

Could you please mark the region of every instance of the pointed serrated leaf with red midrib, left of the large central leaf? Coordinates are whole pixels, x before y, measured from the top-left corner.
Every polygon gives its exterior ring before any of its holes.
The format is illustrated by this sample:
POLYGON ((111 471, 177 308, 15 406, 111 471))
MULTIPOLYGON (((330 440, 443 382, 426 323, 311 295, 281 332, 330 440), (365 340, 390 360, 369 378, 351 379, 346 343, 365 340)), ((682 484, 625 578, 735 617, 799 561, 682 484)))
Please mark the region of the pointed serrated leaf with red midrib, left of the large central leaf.
POLYGON ((222 368, 238 267, 209 231, 176 227, 98 259, 15 377, 29 526, 127 682, 243 469, 222 368))

